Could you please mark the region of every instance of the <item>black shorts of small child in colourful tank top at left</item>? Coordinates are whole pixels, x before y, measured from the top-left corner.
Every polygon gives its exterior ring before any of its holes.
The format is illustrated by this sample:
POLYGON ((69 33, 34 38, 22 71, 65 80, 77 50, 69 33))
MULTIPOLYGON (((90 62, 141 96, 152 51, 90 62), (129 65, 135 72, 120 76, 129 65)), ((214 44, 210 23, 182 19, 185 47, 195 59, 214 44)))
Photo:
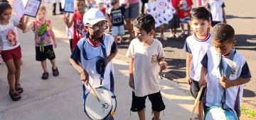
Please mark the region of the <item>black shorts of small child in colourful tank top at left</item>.
POLYGON ((36 61, 45 61, 46 59, 55 59, 53 44, 42 47, 36 47, 36 61))

